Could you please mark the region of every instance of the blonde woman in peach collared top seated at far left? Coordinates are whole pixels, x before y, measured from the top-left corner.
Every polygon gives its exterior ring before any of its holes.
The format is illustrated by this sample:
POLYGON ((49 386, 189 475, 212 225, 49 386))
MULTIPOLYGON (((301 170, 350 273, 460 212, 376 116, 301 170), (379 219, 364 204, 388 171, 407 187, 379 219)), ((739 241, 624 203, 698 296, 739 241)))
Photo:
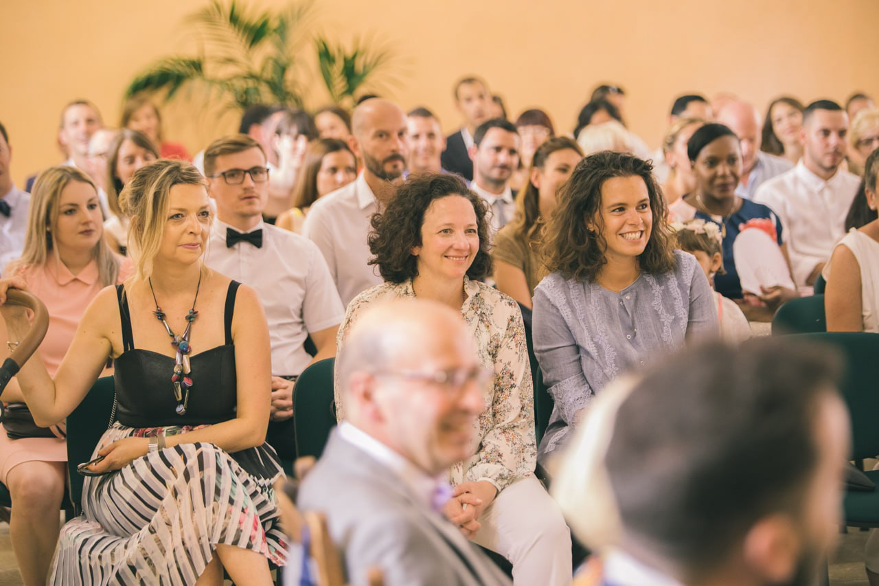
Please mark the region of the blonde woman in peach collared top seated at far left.
MULTIPOLYGON (((84 172, 62 165, 40 173, 31 206, 24 252, 4 275, 17 277, 15 282, 46 304, 48 331, 39 358, 28 364, 43 363, 54 375, 91 300, 107 285, 122 282, 131 269, 130 262, 123 268, 122 259, 101 238, 98 190, 84 172)), ((11 328, 7 335, 0 321, 0 338, 10 341, 10 349, 20 333, 11 328)), ((6 358, 5 348, 0 355, 6 358)), ((13 503, 12 549, 25 584, 45 584, 67 478, 63 423, 53 428, 34 423, 18 377, 4 390, 3 401, 13 404, 5 427, 0 426, 0 482, 9 488, 13 503)))

